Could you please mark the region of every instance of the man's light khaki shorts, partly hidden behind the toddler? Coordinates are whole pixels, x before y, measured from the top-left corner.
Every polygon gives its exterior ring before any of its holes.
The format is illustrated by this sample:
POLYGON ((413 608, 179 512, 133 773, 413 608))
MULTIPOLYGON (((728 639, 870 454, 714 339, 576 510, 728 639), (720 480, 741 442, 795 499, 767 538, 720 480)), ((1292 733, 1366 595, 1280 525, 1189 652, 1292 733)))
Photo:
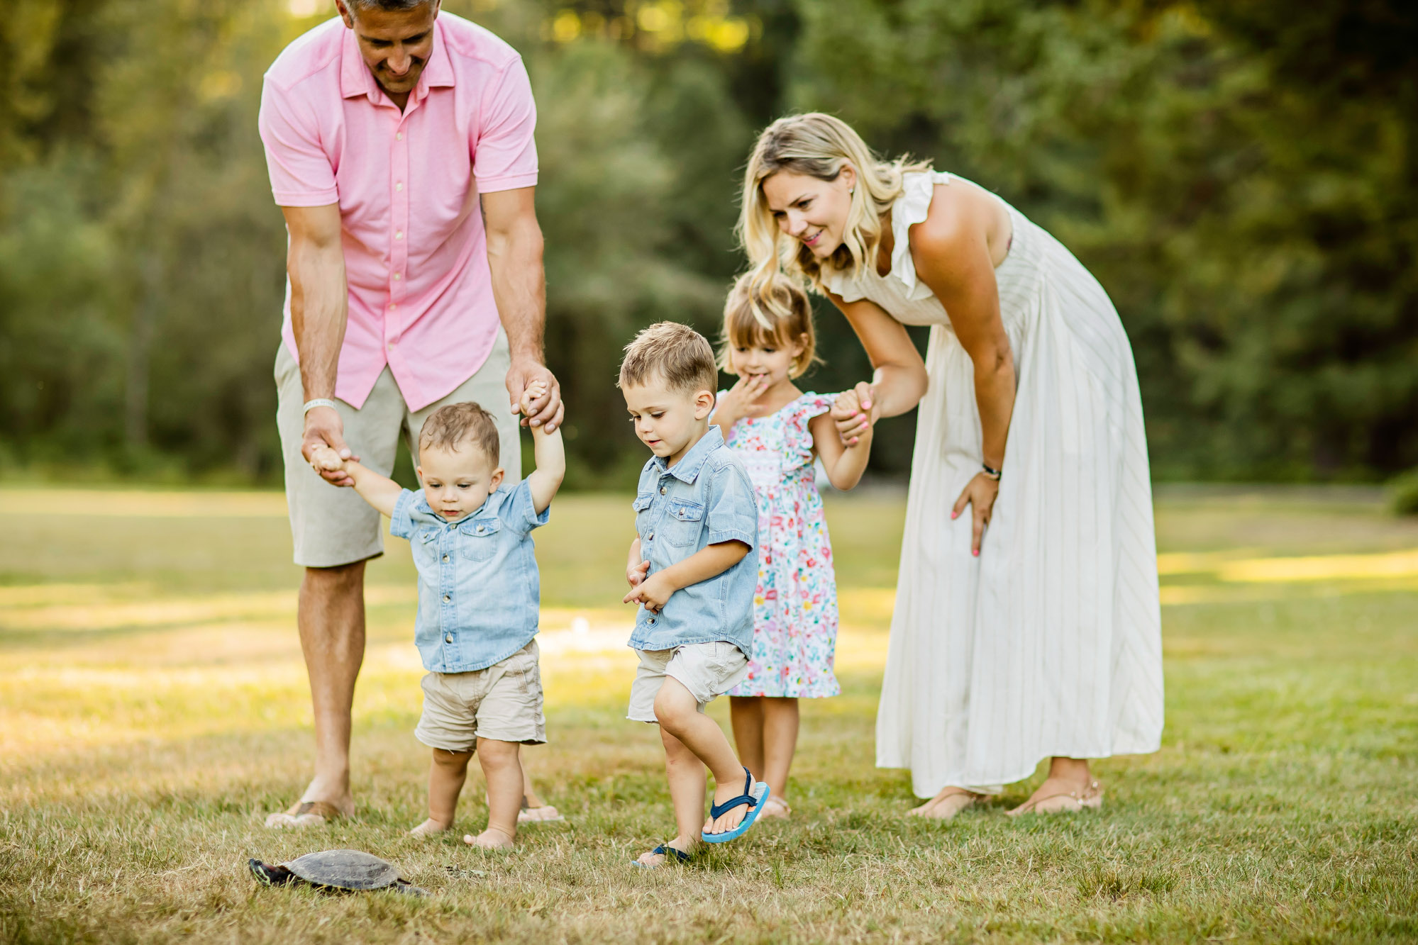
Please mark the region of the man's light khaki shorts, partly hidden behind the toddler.
MULTIPOLYGON (((362 463, 387 476, 394 469, 400 435, 408 442, 417 466, 418 431, 424 421, 445 404, 474 401, 496 418, 498 435, 502 438, 501 465, 506 470, 506 480, 516 483, 522 479, 522 445, 518 439, 518 417, 508 404, 509 364, 508 339, 499 329, 492 353, 478 373, 448 397, 420 411, 408 409, 386 366, 363 407, 354 409, 345 401, 336 401, 335 409, 345 421, 345 442, 362 463)), ((281 455, 285 459, 285 502, 291 510, 295 562, 308 568, 333 568, 383 554, 384 536, 380 533, 379 513, 353 489, 332 486, 320 479, 301 455, 305 392, 301 387, 301 368, 284 341, 275 356, 275 385, 277 426, 281 429, 281 455)))

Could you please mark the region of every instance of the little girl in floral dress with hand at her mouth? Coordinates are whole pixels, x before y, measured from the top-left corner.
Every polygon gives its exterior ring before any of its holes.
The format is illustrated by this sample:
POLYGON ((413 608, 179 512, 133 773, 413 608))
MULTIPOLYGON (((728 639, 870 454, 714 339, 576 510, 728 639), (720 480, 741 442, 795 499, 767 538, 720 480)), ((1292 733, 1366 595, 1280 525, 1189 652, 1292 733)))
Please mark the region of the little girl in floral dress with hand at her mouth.
POLYGON ((720 367, 739 381, 719 394, 710 422, 749 468, 759 496, 759 587, 753 601, 749 676, 729 690, 733 740, 754 778, 767 781, 760 816, 786 817, 788 766, 797 747, 798 698, 837 696, 837 584, 832 545, 817 492, 814 458, 837 489, 866 468, 871 428, 842 443, 834 400, 859 409, 856 394, 800 391, 793 380, 814 361, 813 309, 783 276, 750 292, 740 278, 725 305, 720 367), (757 299, 757 302, 754 302, 757 299))

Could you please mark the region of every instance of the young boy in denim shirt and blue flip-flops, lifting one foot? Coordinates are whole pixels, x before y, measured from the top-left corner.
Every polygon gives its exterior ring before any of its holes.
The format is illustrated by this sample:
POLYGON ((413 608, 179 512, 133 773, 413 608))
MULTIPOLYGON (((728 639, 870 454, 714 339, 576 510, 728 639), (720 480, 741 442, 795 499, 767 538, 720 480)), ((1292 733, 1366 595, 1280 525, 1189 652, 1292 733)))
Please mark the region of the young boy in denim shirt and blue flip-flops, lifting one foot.
POLYGON ((658 723, 675 806, 675 839, 641 854, 652 868, 686 861, 699 840, 725 843, 759 817, 769 785, 739 764, 705 706, 743 680, 753 647, 759 511, 753 482, 709 425, 713 349, 683 324, 652 324, 625 347, 620 388, 635 435, 654 453, 635 492, 627 604, 640 604, 634 721, 658 723), (713 806, 702 822, 705 766, 713 806))

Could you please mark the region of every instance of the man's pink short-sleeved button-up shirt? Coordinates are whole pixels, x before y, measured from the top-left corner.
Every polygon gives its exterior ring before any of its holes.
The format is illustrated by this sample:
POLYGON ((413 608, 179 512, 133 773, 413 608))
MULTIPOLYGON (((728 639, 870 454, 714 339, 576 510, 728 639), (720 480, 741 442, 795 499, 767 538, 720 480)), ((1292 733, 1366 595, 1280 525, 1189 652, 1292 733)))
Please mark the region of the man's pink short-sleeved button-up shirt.
MULTIPOLYGON (((516 50, 441 13, 400 112, 335 18, 267 71, 259 125, 275 201, 340 207, 349 323, 335 395, 362 407, 389 364, 420 409, 472 377, 498 334, 478 194, 536 184, 516 50)), ((281 333, 299 357, 289 283, 281 333)))

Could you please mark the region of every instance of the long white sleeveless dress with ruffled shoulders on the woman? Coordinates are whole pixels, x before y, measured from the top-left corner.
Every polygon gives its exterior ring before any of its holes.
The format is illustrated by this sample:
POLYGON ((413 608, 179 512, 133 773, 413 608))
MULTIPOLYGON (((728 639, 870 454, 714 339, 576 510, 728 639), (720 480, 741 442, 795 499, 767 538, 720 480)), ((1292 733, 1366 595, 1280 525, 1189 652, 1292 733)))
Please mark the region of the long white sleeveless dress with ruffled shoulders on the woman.
MULTIPOLYGON (((917 796, 998 792, 1052 755, 1157 751, 1163 725, 1157 545, 1141 397, 1117 310, 1020 211, 995 269, 1018 392, 1000 496, 978 558, 950 510, 983 460, 974 370, 916 276, 909 228, 934 184, 909 173, 892 268, 827 288, 929 324, 906 530, 876 715, 876 765, 917 796)), ((956 179, 959 180, 959 179, 956 179)), ((1001 201, 1003 203, 1003 201, 1001 201)))

